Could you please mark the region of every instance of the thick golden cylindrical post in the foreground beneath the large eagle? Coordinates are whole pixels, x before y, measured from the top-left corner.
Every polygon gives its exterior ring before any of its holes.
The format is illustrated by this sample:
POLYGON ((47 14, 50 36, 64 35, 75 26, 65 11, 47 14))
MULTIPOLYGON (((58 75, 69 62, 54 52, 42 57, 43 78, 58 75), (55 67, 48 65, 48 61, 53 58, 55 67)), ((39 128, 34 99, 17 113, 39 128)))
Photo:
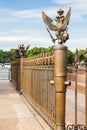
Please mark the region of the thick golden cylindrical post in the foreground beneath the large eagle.
POLYGON ((54 47, 54 84, 56 98, 56 130, 65 130, 67 47, 54 47))

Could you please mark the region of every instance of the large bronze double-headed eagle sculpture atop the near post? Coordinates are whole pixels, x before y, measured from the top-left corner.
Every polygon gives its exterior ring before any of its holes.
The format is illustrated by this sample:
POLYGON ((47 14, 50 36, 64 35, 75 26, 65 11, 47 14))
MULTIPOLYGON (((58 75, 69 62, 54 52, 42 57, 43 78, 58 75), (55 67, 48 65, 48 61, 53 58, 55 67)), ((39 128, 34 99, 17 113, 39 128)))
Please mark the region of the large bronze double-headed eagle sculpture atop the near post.
POLYGON ((42 18, 43 18, 44 23, 47 25, 47 31, 52 41, 55 43, 55 41, 58 40, 59 44, 63 44, 69 39, 68 24, 69 24, 70 15, 71 15, 71 7, 69 8, 65 17, 63 15, 64 11, 62 9, 59 9, 57 13, 58 13, 58 16, 56 16, 54 19, 57 22, 57 25, 54 25, 52 23, 53 20, 50 17, 48 17, 46 13, 43 11, 42 11, 42 18), (49 29, 52 31, 56 31, 55 39, 53 38, 49 29))

